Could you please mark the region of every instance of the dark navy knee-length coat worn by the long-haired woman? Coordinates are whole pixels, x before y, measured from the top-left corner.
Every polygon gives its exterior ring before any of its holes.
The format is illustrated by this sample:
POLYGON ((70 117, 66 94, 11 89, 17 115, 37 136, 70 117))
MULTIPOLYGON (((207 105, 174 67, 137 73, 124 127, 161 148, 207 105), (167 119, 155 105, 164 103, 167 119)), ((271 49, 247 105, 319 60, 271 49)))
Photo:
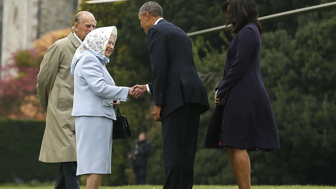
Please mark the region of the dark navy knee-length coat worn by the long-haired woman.
POLYGON ((214 108, 205 141, 206 148, 219 147, 223 123, 223 145, 243 149, 279 149, 273 110, 260 72, 261 40, 258 28, 247 25, 228 47, 223 79, 217 96, 227 91, 225 107, 214 108))

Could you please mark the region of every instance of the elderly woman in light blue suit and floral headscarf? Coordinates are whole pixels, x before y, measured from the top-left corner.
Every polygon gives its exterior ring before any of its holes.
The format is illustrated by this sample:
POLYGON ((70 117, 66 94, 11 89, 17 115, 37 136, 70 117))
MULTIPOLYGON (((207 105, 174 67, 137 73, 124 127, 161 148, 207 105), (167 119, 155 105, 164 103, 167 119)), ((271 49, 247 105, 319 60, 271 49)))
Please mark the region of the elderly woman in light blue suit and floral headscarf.
POLYGON ((111 174, 111 151, 115 108, 128 95, 140 98, 132 88, 118 87, 106 69, 117 39, 114 26, 90 32, 71 62, 74 76, 77 175, 88 175, 87 189, 99 187, 102 174, 111 174))

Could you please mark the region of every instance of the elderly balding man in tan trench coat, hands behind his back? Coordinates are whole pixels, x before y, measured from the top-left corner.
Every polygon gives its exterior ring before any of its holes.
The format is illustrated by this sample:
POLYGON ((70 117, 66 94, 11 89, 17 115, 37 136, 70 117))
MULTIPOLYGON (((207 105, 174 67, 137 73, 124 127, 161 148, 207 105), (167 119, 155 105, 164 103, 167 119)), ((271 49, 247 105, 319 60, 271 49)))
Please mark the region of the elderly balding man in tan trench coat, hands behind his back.
POLYGON ((95 29, 96 23, 92 13, 79 12, 73 32, 49 47, 37 75, 37 98, 40 106, 47 108, 39 160, 61 162, 55 189, 79 189, 75 119, 71 116, 74 78, 70 74, 70 66, 77 47, 95 29))

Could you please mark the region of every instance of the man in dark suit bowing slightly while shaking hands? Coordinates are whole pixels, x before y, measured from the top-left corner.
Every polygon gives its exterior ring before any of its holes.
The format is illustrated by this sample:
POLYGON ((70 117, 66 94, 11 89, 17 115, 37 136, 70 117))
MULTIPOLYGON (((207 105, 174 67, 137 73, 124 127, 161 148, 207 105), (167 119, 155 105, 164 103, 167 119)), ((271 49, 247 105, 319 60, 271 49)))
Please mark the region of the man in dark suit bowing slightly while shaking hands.
POLYGON ((156 2, 142 5, 139 20, 147 34, 152 83, 133 88, 153 95, 153 118, 162 123, 163 189, 192 189, 200 114, 209 109, 192 43, 179 27, 163 19, 156 2))

